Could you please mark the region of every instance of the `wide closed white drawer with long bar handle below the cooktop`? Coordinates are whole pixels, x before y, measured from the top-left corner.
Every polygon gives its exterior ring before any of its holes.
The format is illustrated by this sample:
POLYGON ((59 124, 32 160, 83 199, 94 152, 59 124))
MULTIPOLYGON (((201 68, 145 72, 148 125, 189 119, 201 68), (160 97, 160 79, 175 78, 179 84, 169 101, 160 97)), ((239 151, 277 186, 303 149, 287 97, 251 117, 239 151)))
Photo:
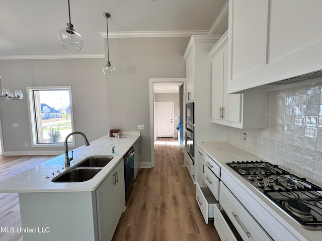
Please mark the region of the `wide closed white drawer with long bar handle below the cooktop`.
POLYGON ((220 204, 244 240, 272 240, 260 224, 220 182, 220 204))

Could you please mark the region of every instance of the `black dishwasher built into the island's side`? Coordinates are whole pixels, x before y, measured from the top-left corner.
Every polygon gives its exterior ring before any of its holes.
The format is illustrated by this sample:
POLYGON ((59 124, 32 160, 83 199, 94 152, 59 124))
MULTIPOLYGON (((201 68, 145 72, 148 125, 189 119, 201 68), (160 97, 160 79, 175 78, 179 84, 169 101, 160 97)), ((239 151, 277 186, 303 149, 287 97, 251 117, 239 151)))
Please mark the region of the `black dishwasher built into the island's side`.
POLYGON ((125 200, 129 197, 134 183, 134 148, 124 156, 125 200))

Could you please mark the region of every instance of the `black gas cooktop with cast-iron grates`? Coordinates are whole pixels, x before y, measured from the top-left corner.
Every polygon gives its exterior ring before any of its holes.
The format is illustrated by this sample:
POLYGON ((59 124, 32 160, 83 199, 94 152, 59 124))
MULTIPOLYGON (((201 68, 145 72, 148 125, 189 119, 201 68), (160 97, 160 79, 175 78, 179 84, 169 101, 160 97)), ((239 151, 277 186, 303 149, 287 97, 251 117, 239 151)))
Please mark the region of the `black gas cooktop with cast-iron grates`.
POLYGON ((322 188, 263 161, 226 163, 301 226, 322 230, 322 188))

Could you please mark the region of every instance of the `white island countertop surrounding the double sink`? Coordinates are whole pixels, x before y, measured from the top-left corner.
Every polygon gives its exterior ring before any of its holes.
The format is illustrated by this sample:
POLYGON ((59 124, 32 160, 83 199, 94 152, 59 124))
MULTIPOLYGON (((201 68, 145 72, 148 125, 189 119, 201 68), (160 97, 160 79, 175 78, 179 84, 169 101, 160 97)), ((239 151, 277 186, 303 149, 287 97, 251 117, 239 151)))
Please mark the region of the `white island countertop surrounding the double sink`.
MULTIPOLYGON (((25 192, 78 192, 94 191, 108 176, 111 170, 120 162, 123 156, 139 139, 140 132, 121 133, 125 138, 105 136, 90 142, 90 146, 81 146, 73 150, 73 160, 70 167, 65 168, 65 154, 40 164, 28 171, 22 172, 3 182, 0 182, 0 193, 25 193, 25 192), (115 146, 115 154, 112 147, 115 146), (78 162, 90 156, 112 155, 114 158, 92 179, 85 182, 58 183, 51 180, 72 168, 78 162)), ((69 150, 69 157, 71 157, 69 150)))

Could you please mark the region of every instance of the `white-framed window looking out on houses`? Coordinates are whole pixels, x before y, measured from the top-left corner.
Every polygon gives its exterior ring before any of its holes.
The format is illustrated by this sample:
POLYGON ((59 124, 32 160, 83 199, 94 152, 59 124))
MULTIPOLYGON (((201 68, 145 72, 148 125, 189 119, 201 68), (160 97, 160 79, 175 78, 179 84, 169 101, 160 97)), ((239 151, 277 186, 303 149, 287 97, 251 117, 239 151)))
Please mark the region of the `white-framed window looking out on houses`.
MULTIPOLYGON (((33 147, 61 146, 73 132, 71 86, 27 87, 33 147)), ((72 136, 68 143, 74 146, 72 136)))

